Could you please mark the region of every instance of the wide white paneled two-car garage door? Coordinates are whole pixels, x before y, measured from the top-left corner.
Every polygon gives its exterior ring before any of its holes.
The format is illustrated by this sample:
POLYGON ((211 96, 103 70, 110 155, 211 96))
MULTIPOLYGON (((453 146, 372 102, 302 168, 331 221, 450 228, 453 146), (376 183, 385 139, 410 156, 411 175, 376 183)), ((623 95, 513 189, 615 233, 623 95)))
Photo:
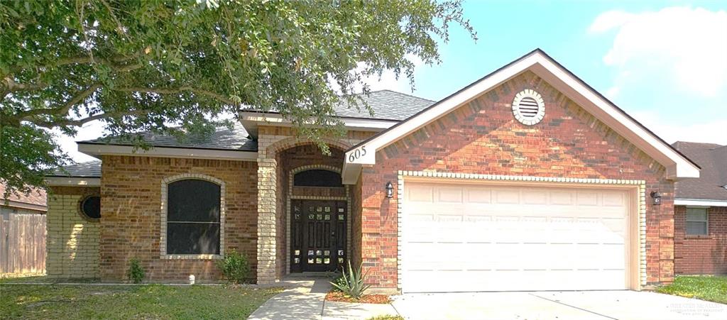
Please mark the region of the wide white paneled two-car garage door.
POLYGON ((403 292, 628 289, 621 190, 405 183, 403 292))

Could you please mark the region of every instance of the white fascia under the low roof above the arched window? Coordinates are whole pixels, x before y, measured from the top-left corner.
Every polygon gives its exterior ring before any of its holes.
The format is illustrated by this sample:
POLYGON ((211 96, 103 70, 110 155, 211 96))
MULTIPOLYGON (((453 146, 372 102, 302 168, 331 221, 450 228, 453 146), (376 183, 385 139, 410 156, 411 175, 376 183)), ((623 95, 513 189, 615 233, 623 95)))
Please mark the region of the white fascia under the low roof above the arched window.
POLYGON ((97 145, 79 143, 79 152, 89 156, 153 156, 160 158, 215 159, 231 161, 257 161, 256 151, 227 151, 190 148, 155 147, 149 150, 141 148, 134 151, 130 145, 97 145))

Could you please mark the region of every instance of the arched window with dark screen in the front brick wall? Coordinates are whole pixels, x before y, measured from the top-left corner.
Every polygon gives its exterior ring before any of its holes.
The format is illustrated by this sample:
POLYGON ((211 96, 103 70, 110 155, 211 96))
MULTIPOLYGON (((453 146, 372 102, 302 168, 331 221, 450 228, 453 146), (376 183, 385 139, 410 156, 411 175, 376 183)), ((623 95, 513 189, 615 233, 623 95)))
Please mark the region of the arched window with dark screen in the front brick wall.
POLYGON ((220 185, 176 180, 167 185, 166 254, 220 254, 220 185))

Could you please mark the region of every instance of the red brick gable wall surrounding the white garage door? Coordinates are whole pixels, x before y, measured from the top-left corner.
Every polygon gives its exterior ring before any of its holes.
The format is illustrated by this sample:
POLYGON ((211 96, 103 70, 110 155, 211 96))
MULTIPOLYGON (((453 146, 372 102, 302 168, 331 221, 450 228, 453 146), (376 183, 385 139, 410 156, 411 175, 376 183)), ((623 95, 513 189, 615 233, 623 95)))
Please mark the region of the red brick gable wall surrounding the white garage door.
POLYGON ((364 167, 361 252, 375 287, 397 284, 397 201, 384 185, 398 170, 491 175, 646 180, 662 205, 647 206, 648 284, 672 281, 673 184, 664 167, 598 121, 534 73, 526 72, 467 105, 398 140, 364 167), (510 103, 523 89, 545 100, 545 119, 516 121, 510 103))

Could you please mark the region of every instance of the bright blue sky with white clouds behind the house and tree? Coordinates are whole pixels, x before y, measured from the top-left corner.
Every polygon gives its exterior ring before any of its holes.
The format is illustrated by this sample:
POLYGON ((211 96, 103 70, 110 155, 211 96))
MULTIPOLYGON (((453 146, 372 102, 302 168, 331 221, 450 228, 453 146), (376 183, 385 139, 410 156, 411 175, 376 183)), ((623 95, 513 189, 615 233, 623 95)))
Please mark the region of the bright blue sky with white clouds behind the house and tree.
MULTIPOLYGON (((545 50, 657 135, 727 144, 727 0, 465 1, 478 33, 451 28, 440 65, 419 65, 413 95, 439 100, 535 48, 545 50)), ((372 89, 411 93, 406 79, 385 73, 372 89)), ((89 124, 62 137, 101 135, 89 124)))

